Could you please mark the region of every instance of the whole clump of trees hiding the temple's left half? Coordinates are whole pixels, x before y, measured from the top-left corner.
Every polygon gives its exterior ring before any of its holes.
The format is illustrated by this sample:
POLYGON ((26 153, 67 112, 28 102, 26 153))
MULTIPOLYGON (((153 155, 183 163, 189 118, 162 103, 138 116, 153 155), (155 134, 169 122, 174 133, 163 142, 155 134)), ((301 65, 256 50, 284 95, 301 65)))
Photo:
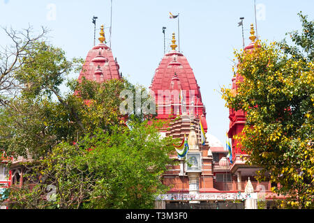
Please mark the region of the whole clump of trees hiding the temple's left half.
POLYGON ((28 183, 10 188, 10 206, 151 208, 167 189, 160 176, 172 162, 172 139, 160 137, 153 116, 119 112, 121 91, 146 90, 126 79, 69 80, 82 60, 47 42, 33 41, 26 53, 10 71, 17 95, 0 100, 0 148, 33 159, 24 163, 28 183))

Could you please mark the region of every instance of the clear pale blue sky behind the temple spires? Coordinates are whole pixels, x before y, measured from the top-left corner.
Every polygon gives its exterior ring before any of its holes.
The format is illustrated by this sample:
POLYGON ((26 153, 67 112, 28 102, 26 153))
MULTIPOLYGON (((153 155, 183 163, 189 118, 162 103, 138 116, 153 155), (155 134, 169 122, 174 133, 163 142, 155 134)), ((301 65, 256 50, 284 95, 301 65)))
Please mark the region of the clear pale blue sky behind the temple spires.
MULTIPOLYGON (((229 114, 218 91, 231 84, 233 51, 243 45, 239 17, 244 17, 245 43, 249 43, 250 24, 255 25, 254 0, 112 1, 114 57, 130 82, 147 88, 163 57, 162 27, 167 27, 168 51, 171 34, 177 33, 177 19, 170 20, 169 12, 180 13, 180 50, 200 86, 209 132, 224 145, 229 114)), ((288 31, 300 29, 300 10, 313 20, 313 0, 256 0, 256 6, 257 33, 262 40, 282 40, 288 31)), ((85 59, 94 45, 94 15, 98 38, 100 24, 110 26, 110 0, 0 0, 0 26, 23 29, 30 24, 35 30, 46 26, 52 30, 51 43, 63 48, 68 58, 85 59)), ((109 40, 109 29, 105 36, 109 40)), ((1 30, 0 45, 8 45, 1 30)))

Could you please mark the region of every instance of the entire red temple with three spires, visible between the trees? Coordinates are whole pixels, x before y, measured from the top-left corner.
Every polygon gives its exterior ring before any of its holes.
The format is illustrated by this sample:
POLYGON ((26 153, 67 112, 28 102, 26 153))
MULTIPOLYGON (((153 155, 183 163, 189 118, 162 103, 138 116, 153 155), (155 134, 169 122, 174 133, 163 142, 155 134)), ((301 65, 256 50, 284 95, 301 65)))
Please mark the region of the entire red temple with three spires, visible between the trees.
MULTIPOLYGON (((251 25, 251 43, 244 50, 254 47, 254 35, 251 25)), ((96 82, 121 79, 117 59, 105 44, 103 26, 99 40, 100 43, 87 54, 79 82, 82 77, 96 82)), ((227 135, 232 140, 230 154, 214 136, 215 132, 211 132, 210 123, 207 123, 202 98, 212 95, 201 94, 196 78, 200 76, 190 67, 188 55, 177 50, 176 41, 175 33, 172 33, 170 52, 163 56, 149 86, 156 99, 156 118, 169 121, 169 125, 160 132, 161 137, 171 136, 182 141, 181 147, 177 145, 175 149, 174 145, 172 154, 178 164, 169 166, 162 177, 163 183, 170 185, 171 190, 156 197, 156 208, 184 208, 188 205, 195 208, 257 208, 257 199, 271 201, 274 195, 271 184, 255 180, 255 171, 259 167, 246 164, 244 157, 248 155, 233 139, 244 128, 246 114, 243 111, 229 111, 230 128, 227 135)), ((232 89, 236 91, 241 76, 232 77, 230 74, 230 81, 232 89)), ((1 162, 0 187, 22 187, 27 169, 20 162, 25 160, 13 160, 10 169, 6 168, 5 160, 1 162)))

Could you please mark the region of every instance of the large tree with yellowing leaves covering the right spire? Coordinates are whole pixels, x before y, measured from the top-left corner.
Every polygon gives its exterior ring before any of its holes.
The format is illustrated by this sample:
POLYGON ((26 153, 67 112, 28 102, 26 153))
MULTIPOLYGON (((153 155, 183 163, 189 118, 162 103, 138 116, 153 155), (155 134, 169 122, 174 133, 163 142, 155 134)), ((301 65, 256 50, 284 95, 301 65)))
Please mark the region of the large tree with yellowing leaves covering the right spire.
POLYGON ((248 164, 263 167, 285 208, 314 206, 314 22, 299 14, 303 30, 289 33, 294 45, 257 42, 251 51, 235 52, 239 63, 237 92, 223 88, 227 107, 243 109, 246 125, 239 140, 248 164))

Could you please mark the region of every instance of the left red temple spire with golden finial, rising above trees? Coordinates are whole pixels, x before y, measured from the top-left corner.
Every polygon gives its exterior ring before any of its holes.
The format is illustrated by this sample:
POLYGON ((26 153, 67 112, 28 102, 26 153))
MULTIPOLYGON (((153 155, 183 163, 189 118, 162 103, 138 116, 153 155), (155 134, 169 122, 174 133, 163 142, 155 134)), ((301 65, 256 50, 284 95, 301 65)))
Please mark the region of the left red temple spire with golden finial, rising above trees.
POLYGON ((78 77, 79 82, 82 82, 82 77, 95 82, 105 82, 107 79, 121 79, 117 59, 114 59, 110 47, 105 45, 103 25, 100 26, 99 34, 98 40, 100 43, 89 50, 78 77))

